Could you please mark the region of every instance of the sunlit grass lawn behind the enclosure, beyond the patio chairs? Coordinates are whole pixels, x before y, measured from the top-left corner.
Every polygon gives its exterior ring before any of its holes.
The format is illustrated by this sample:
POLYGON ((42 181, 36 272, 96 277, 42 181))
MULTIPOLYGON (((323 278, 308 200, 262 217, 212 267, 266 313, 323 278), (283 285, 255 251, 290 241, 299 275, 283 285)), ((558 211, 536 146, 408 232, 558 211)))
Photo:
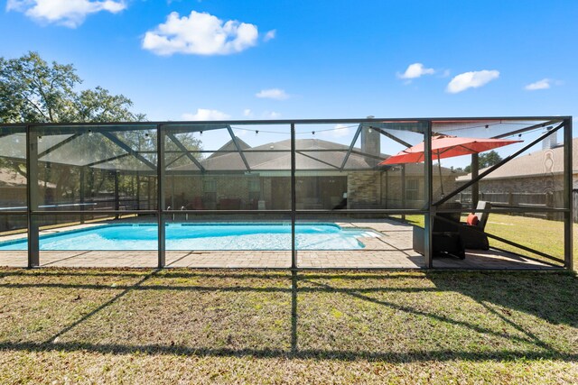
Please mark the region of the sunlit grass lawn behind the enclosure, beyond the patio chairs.
MULTIPOLYGON (((406 215, 406 221, 412 225, 424 227, 423 215, 406 215)), ((462 221, 465 222, 465 216, 462 221)), ((491 213, 486 225, 486 232, 564 260, 563 222, 528 216, 491 213)), ((578 270, 578 225, 573 226, 573 239, 573 264, 574 270, 578 270)), ((548 261, 535 253, 527 252, 493 239, 489 240, 489 245, 527 255, 538 260, 548 261)))

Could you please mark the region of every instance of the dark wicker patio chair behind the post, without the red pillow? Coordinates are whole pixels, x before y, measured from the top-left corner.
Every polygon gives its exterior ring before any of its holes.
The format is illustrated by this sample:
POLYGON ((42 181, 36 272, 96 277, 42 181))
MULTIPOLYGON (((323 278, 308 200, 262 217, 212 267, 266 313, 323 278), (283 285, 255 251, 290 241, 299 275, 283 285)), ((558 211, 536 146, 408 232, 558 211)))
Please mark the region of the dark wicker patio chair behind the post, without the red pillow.
MULTIPOLYGON (((461 203, 450 202, 439 208, 460 209, 461 203)), ((424 255, 425 231, 414 227, 413 243, 415 252, 424 255)), ((453 256, 463 260, 466 257, 460 234, 460 213, 438 213, 433 217, 432 228, 433 256, 453 256)))

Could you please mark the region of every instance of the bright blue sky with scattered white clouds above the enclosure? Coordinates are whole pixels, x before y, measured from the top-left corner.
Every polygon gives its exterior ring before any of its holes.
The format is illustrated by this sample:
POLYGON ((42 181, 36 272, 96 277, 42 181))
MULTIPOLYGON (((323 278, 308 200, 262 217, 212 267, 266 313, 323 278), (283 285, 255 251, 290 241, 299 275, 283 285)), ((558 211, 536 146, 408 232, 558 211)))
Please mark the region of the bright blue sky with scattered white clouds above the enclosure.
POLYGON ((578 115, 577 20, 574 0, 8 0, 0 56, 73 63, 150 120, 578 115))

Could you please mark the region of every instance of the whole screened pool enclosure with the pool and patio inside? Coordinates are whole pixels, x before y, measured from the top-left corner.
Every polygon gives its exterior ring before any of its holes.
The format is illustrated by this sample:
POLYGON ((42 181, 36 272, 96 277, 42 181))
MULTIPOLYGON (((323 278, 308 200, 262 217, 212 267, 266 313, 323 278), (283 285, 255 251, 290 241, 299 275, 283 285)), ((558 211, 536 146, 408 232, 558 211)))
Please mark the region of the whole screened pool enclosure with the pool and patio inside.
POLYGON ((4 124, 0 265, 572 269, 572 147, 570 116, 4 124))

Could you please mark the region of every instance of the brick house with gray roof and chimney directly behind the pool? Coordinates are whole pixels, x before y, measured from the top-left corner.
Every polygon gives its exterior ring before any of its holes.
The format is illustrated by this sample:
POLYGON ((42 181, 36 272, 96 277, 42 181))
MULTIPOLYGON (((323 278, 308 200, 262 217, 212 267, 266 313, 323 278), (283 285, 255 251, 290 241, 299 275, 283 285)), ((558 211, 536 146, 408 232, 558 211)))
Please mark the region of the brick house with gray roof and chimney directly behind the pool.
MULTIPOLYGON (((295 140, 297 209, 422 207, 424 164, 378 166, 388 156, 379 152, 380 136, 364 129, 360 148, 352 149, 321 139, 295 140)), ((166 206, 290 209, 291 142, 257 147, 238 137, 235 142, 229 141, 199 164, 191 161, 167 170, 166 206)), ((443 169, 444 188, 455 187, 455 175, 443 169)))

